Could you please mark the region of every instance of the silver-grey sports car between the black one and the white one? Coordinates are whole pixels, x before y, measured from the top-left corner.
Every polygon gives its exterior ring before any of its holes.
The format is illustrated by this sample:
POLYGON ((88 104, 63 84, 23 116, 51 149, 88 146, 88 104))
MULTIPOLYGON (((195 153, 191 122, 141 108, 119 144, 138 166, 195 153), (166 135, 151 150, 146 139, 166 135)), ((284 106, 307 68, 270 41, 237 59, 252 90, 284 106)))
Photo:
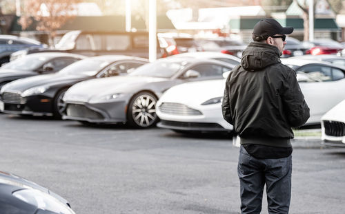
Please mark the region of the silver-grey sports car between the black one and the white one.
POLYGON ((188 81, 223 78, 235 65, 190 57, 162 58, 128 76, 83 81, 63 96, 63 119, 94 123, 126 122, 133 127, 156 124, 156 103, 166 89, 188 81))

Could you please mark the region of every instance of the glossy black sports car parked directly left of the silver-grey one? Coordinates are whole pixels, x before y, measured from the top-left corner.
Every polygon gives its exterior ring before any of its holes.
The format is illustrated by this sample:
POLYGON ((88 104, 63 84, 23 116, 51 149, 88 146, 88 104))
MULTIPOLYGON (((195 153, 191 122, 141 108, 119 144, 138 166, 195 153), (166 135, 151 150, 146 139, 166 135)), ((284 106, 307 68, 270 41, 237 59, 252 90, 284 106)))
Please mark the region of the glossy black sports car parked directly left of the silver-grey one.
POLYGON ((133 56, 94 56, 73 63, 56 74, 13 81, 1 88, 0 111, 61 118, 65 111, 62 97, 70 86, 90 78, 126 74, 129 69, 147 62, 146 58, 133 56))

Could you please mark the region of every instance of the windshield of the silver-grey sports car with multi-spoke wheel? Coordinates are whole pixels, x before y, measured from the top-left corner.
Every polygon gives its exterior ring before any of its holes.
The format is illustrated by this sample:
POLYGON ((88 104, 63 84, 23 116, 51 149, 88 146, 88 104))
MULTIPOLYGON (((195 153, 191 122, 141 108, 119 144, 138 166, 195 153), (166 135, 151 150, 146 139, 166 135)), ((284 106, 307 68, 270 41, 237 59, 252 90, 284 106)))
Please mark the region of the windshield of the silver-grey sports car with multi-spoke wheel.
POLYGON ((151 76, 159 78, 171 78, 186 65, 185 61, 155 61, 142 65, 131 72, 130 76, 151 76))

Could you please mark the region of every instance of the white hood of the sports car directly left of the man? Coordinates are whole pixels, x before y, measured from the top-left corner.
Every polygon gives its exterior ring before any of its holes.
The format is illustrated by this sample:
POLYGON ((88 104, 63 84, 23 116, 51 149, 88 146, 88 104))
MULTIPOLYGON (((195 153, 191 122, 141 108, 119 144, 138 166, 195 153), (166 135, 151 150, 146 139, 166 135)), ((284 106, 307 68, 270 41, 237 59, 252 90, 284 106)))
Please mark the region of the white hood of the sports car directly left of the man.
POLYGON ((200 105, 201 103, 224 95, 226 79, 212 81, 196 81, 176 85, 168 89, 159 99, 159 103, 183 103, 200 105))

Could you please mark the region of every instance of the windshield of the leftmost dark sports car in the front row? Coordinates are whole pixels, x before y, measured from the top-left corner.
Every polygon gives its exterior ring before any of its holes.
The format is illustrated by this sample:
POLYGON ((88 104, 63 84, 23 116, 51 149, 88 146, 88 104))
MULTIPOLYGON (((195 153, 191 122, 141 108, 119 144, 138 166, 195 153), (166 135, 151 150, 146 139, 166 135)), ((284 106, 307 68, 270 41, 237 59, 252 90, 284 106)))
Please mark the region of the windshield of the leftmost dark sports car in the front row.
POLYGON ((14 70, 35 70, 38 69, 48 61, 49 58, 45 56, 34 56, 34 55, 28 55, 23 58, 18 58, 14 61, 10 61, 10 63, 7 63, 6 65, 1 66, 1 68, 6 69, 14 69, 14 70))

